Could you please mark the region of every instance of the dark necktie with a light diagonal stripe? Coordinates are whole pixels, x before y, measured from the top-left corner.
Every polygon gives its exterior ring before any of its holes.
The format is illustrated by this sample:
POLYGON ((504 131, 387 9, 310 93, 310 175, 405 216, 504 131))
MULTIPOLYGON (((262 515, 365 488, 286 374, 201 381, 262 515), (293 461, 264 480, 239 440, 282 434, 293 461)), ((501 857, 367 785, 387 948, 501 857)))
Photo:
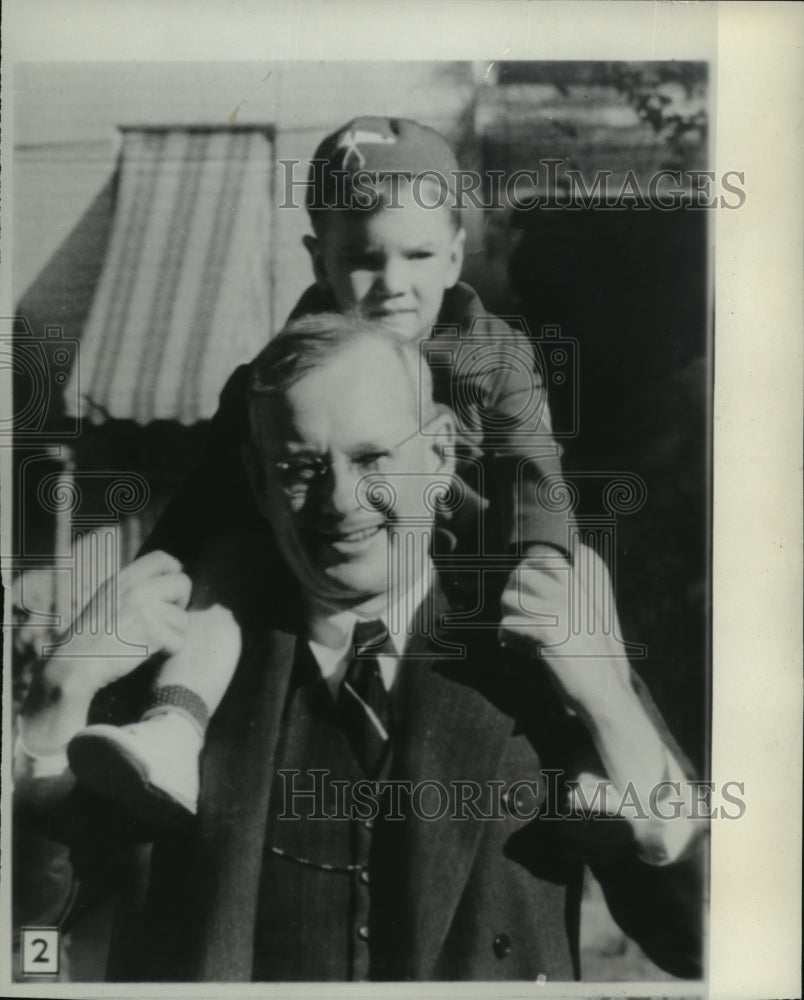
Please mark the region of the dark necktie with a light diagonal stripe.
POLYGON ((388 630, 381 621, 355 625, 353 655, 338 693, 343 727, 358 760, 371 777, 382 767, 391 736, 388 692, 377 656, 372 652, 387 635, 388 630))

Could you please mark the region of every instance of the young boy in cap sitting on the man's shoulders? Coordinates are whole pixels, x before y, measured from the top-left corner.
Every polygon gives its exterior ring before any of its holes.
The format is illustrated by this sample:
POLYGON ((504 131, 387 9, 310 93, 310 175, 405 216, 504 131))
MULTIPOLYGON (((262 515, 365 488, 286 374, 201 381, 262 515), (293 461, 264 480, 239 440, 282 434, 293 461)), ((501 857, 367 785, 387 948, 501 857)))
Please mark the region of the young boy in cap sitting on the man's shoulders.
MULTIPOLYGON (((445 524, 459 552, 521 559, 546 546, 566 555, 568 516, 538 497, 544 477, 560 475, 560 451, 533 349, 458 280, 466 234, 457 171, 443 137, 405 119, 356 118, 324 139, 306 189, 314 235, 304 245, 315 284, 293 317, 354 311, 422 342, 436 400, 452 407, 458 423, 463 503, 445 524)), ((191 575, 219 531, 262 521, 241 459, 248 372, 241 366, 227 382, 206 459, 146 545, 176 556, 191 575)), ((195 811, 205 728, 239 655, 232 623, 214 601, 202 600, 184 648, 159 670, 142 721, 91 725, 69 747, 79 779, 140 811, 176 803, 195 811)))

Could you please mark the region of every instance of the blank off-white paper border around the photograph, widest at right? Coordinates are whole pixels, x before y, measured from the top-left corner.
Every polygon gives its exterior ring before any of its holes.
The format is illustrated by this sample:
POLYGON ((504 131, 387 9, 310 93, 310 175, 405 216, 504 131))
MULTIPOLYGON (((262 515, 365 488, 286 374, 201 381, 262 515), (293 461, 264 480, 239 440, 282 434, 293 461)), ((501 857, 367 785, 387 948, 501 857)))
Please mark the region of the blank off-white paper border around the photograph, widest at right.
MULTIPOLYGON (((713 757, 745 783, 739 822, 712 829, 708 996, 800 989, 801 371, 804 71, 800 5, 784 3, 304 0, 14 0, 4 9, 3 260, 13 248, 10 154, 16 62, 365 59, 714 60, 712 164, 745 174, 745 204, 717 212, 714 396, 713 757), (716 52, 712 43, 716 40, 716 52)), ((10 269, 0 304, 11 315, 10 269)), ((5 377, 8 373, 2 373, 5 377)), ((7 385, 0 394, 8 406, 7 385)), ((4 414, 8 410, 5 410, 4 414)), ((3 456, 7 465, 7 455, 3 456)), ((4 473, 7 468, 4 467, 4 473)), ((4 475, 5 483, 9 478, 4 475)), ((4 490, 2 530, 10 528, 4 490)), ((6 591, 6 615, 9 613, 6 591)), ((7 647, 6 647, 7 648, 7 647)), ((4 690, 10 668, 4 664, 4 690)), ((8 698, 3 706, 8 732, 8 698)), ((10 763, 2 763, 2 817, 10 763)), ((2 823, 0 941, 10 940, 2 823)), ((6 946, 4 946, 6 947, 6 946)), ((319 996, 320 986, 14 984, 13 996, 319 996)), ((366 996, 409 995, 367 986, 366 996)), ((421 984, 417 997, 450 995, 421 984)), ((690 995, 689 983, 605 984, 608 996, 690 995)), ((353 996, 354 986, 327 988, 353 996)), ((599 995, 599 984, 462 984, 464 996, 599 995)))

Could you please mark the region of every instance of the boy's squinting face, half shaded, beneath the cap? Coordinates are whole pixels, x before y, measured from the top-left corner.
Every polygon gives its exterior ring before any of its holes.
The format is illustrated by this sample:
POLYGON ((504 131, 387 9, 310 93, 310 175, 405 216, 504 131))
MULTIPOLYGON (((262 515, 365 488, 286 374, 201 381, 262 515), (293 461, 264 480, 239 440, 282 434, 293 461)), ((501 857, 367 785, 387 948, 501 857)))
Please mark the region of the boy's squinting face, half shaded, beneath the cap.
MULTIPOLYGON (((357 310, 405 337, 428 337, 446 289, 460 277, 465 232, 446 206, 427 208, 400 185, 401 207, 332 211, 308 236, 316 280, 341 312, 357 310)), ((428 196, 425 196, 428 197, 428 196)))

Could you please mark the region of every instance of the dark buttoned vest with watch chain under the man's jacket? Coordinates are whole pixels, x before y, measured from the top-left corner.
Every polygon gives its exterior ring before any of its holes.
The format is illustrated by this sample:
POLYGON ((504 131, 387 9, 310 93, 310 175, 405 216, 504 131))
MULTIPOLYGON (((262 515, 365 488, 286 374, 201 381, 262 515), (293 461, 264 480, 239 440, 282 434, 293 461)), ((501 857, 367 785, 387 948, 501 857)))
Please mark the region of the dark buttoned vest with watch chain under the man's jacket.
POLYGON ((397 978, 404 823, 388 817, 309 648, 299 651, 266 824, 254 980, 397 978))

